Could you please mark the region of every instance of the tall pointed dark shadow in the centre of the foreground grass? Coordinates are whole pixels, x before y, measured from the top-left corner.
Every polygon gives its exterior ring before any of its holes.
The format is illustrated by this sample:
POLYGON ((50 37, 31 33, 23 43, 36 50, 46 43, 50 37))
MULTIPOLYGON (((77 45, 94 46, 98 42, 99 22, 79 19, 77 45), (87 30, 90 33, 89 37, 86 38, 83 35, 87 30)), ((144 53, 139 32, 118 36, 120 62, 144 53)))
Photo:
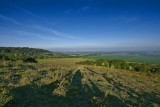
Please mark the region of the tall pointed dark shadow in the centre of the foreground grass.
POLYGON ((89 106, 91 95, 88 91, 91 91, 91 89, 88 85, 81 83, 82 78, 82 73, 80 70, 77 70, 66 93, 69 106, 89 106))

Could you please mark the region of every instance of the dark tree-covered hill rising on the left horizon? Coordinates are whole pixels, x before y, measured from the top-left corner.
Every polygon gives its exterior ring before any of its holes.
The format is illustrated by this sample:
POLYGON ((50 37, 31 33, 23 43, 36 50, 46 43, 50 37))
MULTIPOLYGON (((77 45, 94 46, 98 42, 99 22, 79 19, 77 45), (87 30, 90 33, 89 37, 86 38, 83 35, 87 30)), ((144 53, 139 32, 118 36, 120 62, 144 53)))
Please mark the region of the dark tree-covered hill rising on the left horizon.
POLYGON ((23 60, 28 57, 43 59, 53 55, 52 52, 44 49, 28 47, 0 47, 0 59, 4 60, 23 60))

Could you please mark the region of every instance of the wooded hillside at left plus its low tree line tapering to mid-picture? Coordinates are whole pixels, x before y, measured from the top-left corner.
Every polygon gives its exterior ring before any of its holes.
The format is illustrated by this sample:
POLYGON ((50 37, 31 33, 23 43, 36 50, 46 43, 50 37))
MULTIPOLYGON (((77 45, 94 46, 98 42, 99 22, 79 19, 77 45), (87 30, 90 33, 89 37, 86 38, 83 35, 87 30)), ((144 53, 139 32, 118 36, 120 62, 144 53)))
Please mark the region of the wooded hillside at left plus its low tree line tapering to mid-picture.
POLYGON ((28 47, 0 47, 0 60, 18 61, 27 58, 46 59, 46 58, 79 58, 80 54, 53 53, 44 49, 28 47))

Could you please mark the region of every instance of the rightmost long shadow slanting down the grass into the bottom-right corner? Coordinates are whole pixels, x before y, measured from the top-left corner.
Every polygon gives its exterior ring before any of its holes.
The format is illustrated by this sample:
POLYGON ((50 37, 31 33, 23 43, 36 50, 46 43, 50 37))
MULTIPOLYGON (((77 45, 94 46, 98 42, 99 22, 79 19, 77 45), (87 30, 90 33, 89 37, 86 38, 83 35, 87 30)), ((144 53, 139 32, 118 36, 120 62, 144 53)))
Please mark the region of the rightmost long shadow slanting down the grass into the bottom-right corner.
POLYGON ((152 107, 153 103, 156 103, 158 105, 160 105, 160 98, 156 96, 156 93, 146 93, 143 92, 142 94, 137 93, 135 90, 127 87, 127 86, 123 86, 121 83, 117 83, 115 82, 112 78, 107 78, 106 75, 103 75, 103 77, 114 86, 115 89, 117 89, 118 91, 127 91, 127 94, 129 95, 129 100, 125 100, 124 102, 127 105, 131 105, 131 106, 149 106, 152 107), (133 96, 136 95, 136 96, 133 96), (132 102, 132 100, 136 100, 136 102, 132 102))

